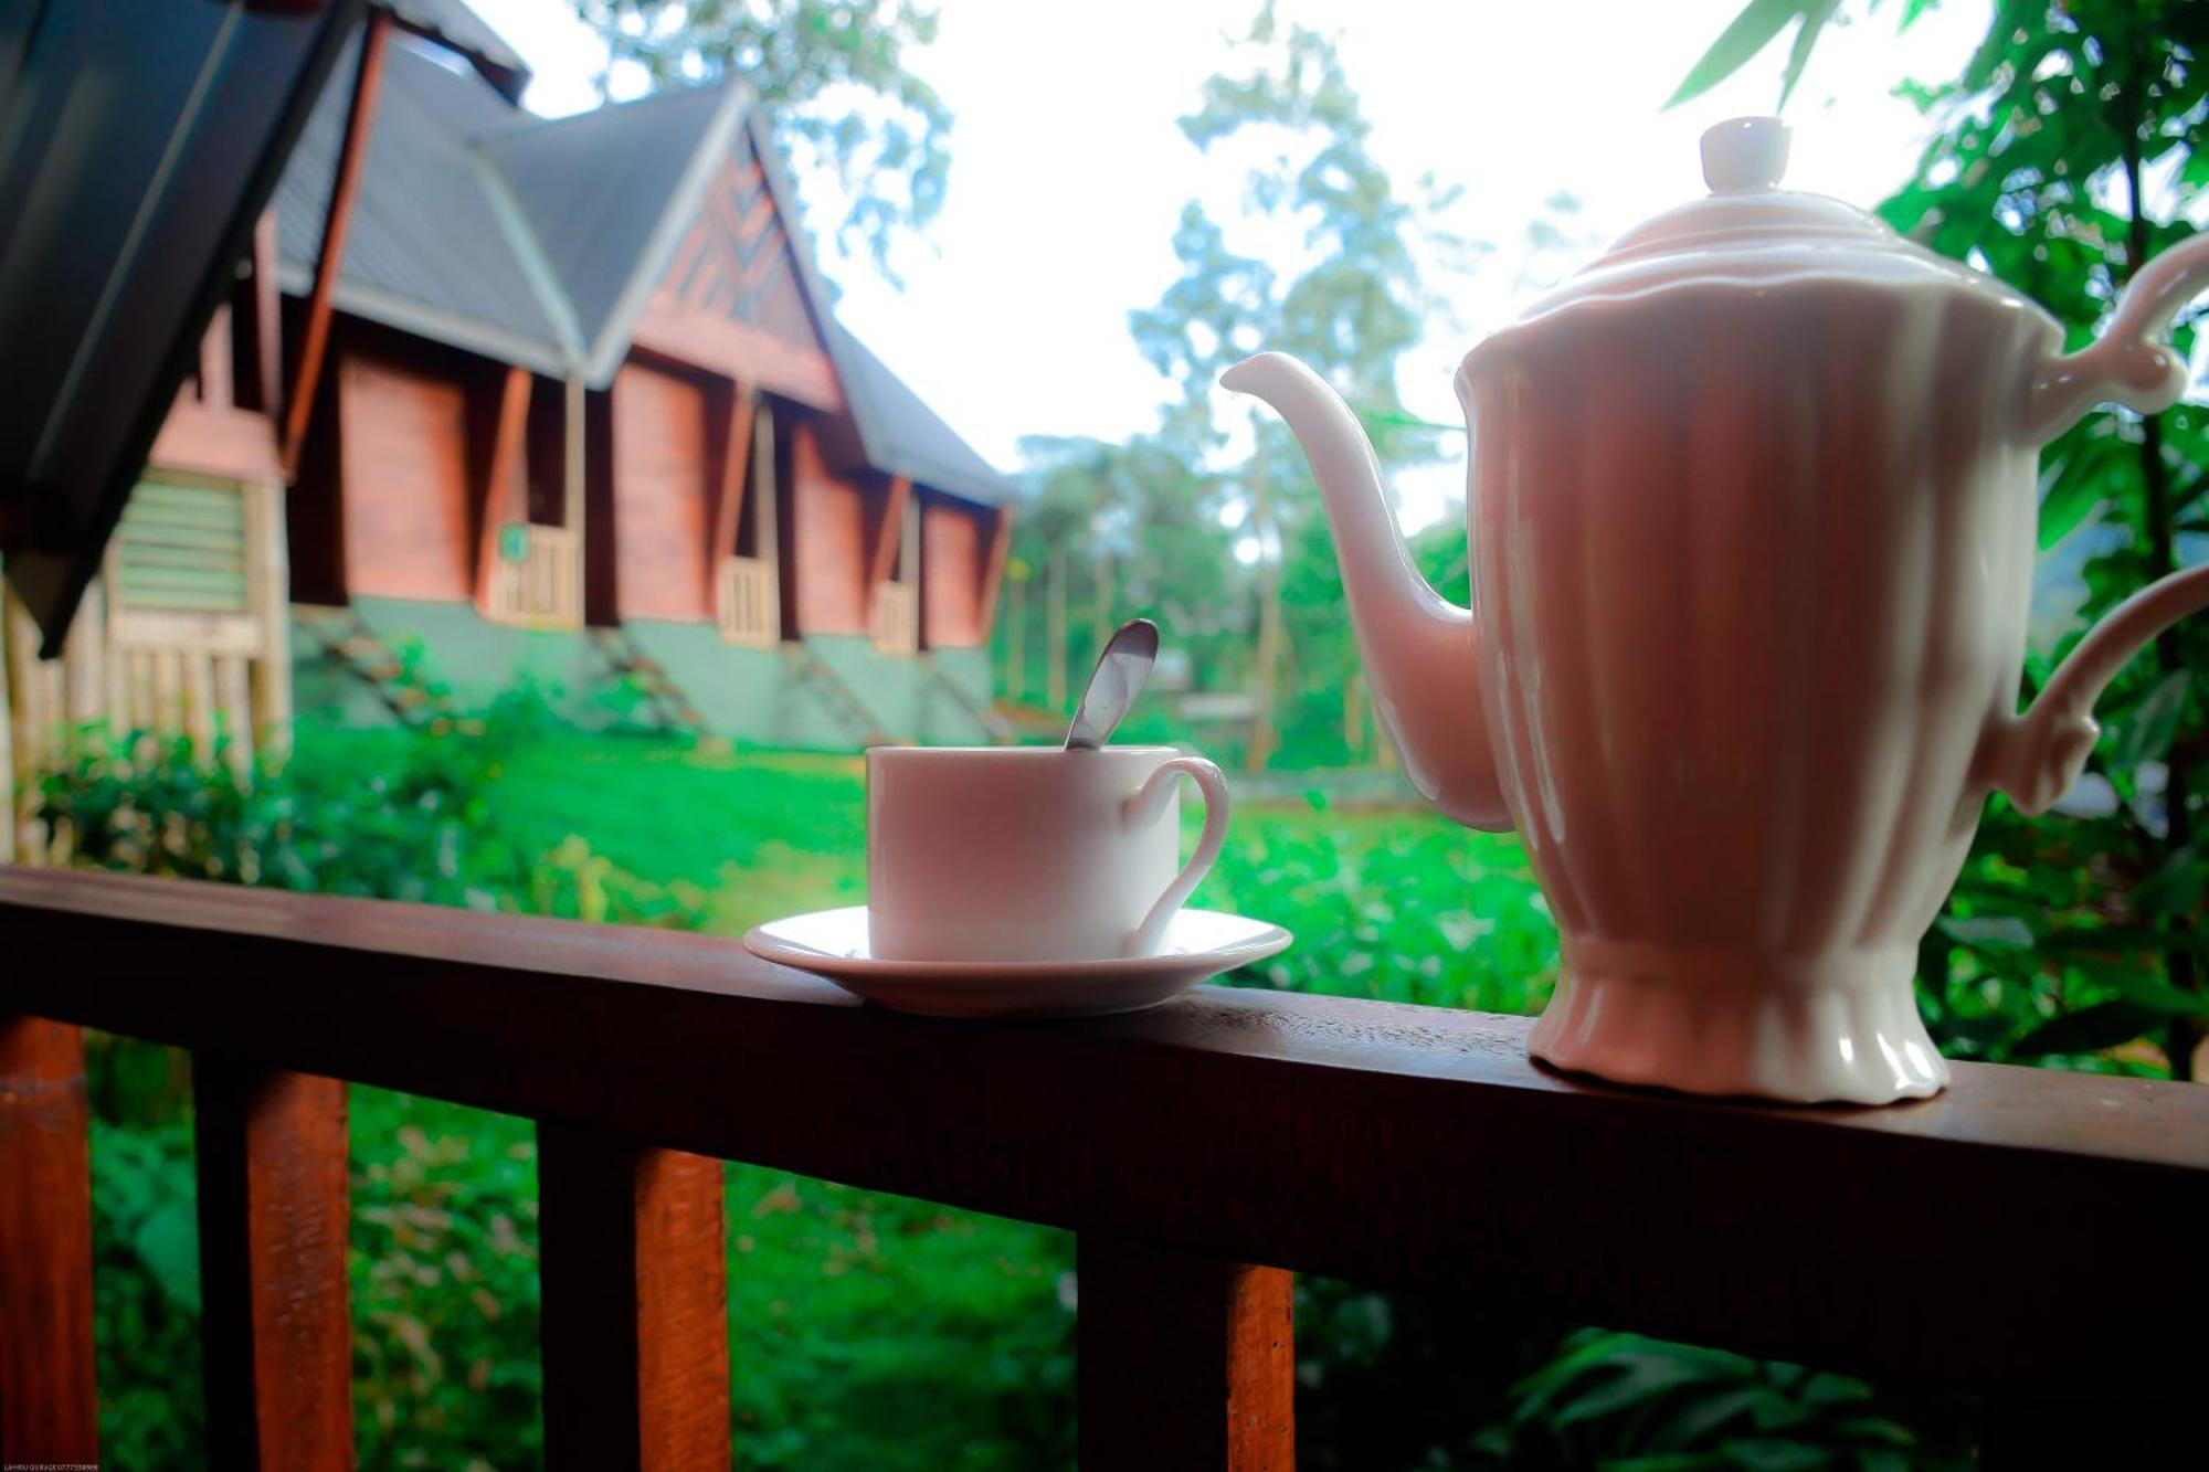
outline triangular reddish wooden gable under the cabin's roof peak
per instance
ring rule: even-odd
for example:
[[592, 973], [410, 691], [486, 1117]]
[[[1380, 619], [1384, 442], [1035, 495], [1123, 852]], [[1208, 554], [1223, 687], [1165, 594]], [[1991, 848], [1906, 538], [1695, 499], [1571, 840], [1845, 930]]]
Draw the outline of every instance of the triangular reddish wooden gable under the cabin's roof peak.
[[791, 225], [749, 128], [707, 183], [632, 343], [800, 404], [844, 409]]

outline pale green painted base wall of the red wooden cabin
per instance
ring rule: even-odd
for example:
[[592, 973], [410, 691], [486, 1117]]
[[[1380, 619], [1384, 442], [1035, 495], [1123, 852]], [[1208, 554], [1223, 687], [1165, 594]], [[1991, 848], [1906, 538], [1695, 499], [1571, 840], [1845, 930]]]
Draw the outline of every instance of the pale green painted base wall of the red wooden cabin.
[[[530, 681], [566, 721], [585, 729], [652, 718], [649, 709], [638, 707], [634, 692], [623, 690], [614, 665], [583, 630], [508, 628], [479, 617], [468, 603], [353, 599], [353, 610], [393, 650], [420, 645], [424, 672], [451, 685], [462, 707], [488, 705], [499, 692]], [[802, 645], [780, 650], [738, 650], [722, 643], [709, 623], [638, 619], [625, 630], [718, 736], [773, 747], [857, 749], [864, 734], [837, 718], [822, 681], [806, 672], [811, 654], [857, 696], [870, 725], [895, 740], [990, 740], [981, 721], [945, 687], [956, 681], [974, 703], [987, 705], [987, 650], [932, 650], [921, 659], [888, 659], [866, 639], [853, 637], [808, 637]], [[325, 654], [323, 639], [296, 614], [292, 661], [292, 701], [303, 718], [342, 725], [391, 721], [369, 683]]]

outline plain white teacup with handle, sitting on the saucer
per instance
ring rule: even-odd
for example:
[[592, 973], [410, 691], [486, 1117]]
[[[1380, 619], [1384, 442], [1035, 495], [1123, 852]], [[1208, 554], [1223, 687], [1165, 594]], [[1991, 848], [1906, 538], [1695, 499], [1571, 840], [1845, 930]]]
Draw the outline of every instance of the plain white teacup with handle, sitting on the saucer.
[[[1186, 864], [1184, 774], [1204, 791]], [[875, 747], [868, 944], [899, 961], [1155, 955], [1226, 829], [1219, 767], [1173, 747]]]

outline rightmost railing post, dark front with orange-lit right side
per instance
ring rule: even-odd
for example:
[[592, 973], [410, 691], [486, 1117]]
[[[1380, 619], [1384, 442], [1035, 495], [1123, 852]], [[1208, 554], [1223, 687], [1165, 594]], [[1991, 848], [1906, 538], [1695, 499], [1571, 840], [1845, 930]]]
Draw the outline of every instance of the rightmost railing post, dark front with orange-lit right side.
[[1290, 1472], [1294, 1275], [1153, 1242], [1076, 1247], [1082, 1472]]

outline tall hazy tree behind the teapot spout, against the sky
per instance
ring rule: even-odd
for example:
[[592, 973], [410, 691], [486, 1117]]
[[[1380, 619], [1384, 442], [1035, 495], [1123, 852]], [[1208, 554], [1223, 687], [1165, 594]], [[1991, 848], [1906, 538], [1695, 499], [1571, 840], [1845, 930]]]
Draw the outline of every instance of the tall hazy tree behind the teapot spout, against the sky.
[[[1297, 354], [1361, 411], [1383, 462], [1431, 458], [1434, 429], [1405, 413], [1396, 365], [1436, 316], [1423, 265], [1458, 265], [1469, 248], [1434, 228], [1447, 192], [1398, 186], [1372, 153], [1334, 40], [1270, 4], [1180, 126], [1239, 170], [1239, 208], [1222, 219], [1188, 201], [1177, 276], [1129, 314], [1171, 398], [1124, 446], [1034, 446], [1043, 500], [1023, 517], [1016, 566], [1047, 577], [1056, 555], [1076, 608], [1155, 612], [1195, 656], [1199, 687], [1268, 690], [1261, 756], [1339, 763], [1359, 667], [1317, 488], [1288, 431], [1215, 385], [1253, 351]], [[1023, 648], [1036, 623], [1023, 621]], [[1204, 736], [1233, 749], [1244, 732]]]

